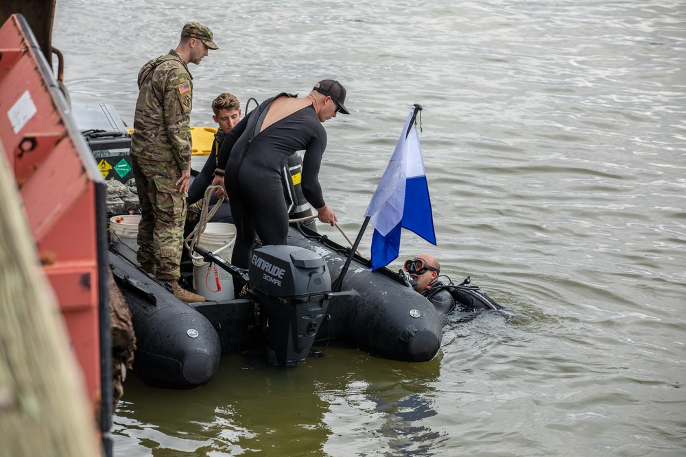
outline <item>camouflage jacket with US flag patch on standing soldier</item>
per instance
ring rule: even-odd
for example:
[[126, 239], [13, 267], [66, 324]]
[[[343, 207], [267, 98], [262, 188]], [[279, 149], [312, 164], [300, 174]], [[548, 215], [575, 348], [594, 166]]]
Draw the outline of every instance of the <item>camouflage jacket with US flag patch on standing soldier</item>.
[[182, 170], [191, 168], [192, 79], [174, 49], [143, 65], [138, 74], [132, 156], [174, 160]]

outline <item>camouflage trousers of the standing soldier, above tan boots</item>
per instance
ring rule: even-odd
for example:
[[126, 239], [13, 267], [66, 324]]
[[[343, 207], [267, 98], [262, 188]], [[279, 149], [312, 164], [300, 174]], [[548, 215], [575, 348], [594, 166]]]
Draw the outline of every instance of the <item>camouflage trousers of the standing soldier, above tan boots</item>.
[[154, 264], [162, 281], [178, 281], [186, 220], [186, 195], [176, 187], [181, 171], [176, 162], [131, 159], [143, 213], [138, 226], [138, 262]]

